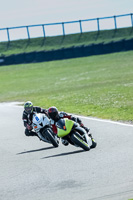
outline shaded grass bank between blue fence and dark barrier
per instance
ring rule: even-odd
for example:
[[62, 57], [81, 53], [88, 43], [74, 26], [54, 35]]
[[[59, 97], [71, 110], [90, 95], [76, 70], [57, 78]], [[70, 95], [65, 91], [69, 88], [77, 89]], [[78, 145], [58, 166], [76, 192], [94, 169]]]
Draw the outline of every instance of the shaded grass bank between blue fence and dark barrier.
[[132, 28], [121, 28], [117, 30], [104, 30], [88, 32], [83, 34], [72, 34], [56, 37], [34, 38], [29, 40], [17, 40], [0, 43], [0, 55], [11, 55], [23, 52], [61, 49], [72, 46], [89, 45], [95, 43], [108, 43], [122, 39], [133, 38]]

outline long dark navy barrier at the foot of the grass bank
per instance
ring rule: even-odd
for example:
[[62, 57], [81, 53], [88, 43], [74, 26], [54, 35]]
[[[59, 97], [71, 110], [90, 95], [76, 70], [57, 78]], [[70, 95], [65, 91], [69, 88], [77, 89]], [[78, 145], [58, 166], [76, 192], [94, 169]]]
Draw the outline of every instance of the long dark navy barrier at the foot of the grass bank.
[[51, 51], [40, 51], [40, 52], [16, 54], [11, 56], [2, 56], [0, 57], [0, 66], [62, 60], [62, 59], [85, 57], [91, 55], [101, 55], [101, 54], [128, 51], [128, 50], [133, 50], [133, 39], [109, 42], [106, 44], [103, 43], [91, 44], [88, 46], [62, 48]]

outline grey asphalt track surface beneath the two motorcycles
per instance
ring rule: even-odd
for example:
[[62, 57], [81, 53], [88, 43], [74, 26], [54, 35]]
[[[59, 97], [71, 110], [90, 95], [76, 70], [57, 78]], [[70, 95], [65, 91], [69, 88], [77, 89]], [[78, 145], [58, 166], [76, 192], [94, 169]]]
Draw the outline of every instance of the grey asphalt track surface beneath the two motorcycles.
[[133, 198], [133, 126], [83, 118], [98, 146], [88, 152], [26, 137], [21, 106], [0, 104], [0, 200]]

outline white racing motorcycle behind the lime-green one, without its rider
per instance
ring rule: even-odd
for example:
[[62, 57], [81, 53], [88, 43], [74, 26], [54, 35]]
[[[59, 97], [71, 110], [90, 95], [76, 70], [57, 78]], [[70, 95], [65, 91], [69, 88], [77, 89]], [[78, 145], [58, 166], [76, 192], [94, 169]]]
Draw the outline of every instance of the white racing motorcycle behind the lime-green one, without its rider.
[[50, 120], [45, 114], [34, 113], [32, 127], [42, 141], [50, 143], [54, 147], [58, 147], [58, 137], [53, 133]]

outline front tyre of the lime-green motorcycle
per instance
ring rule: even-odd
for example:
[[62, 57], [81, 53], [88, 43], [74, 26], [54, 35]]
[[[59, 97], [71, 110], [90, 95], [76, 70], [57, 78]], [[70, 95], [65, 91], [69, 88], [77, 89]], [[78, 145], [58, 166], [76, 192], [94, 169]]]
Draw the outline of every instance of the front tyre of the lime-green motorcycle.
[[74, 144], [81, 147], [85, 151], [90, 150], [89, 145], [83, 140], [82, 136], [78, 132], [71, 134], [71, 140], [73, 141]]

